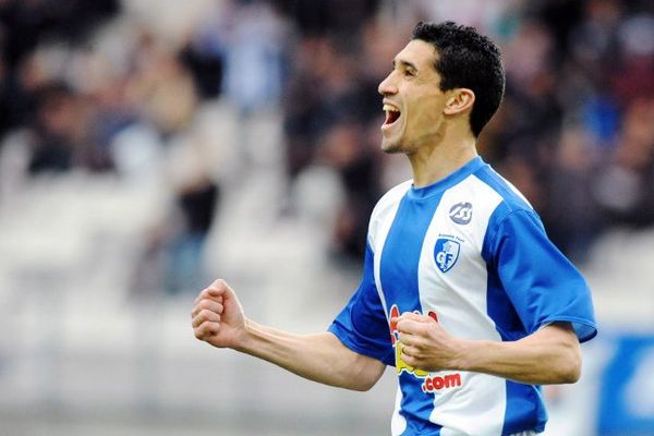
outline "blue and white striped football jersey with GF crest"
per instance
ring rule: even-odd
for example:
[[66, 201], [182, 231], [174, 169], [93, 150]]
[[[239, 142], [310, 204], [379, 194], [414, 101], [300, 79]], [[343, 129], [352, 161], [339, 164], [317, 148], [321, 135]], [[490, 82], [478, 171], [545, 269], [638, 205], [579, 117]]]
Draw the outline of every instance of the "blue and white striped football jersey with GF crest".
[[565, 320], [580, 341], [593, 338], [588, 286], [526, 199], [477, 157], [429, 186], [390, 190], [372, 214], [367, 242], [361, 284], [329, 330], [397, 368], [392, 435], [542, 432], [538, 386], [410, 367], [389, 324], [417, 311], [457, 337], [512, 341]]

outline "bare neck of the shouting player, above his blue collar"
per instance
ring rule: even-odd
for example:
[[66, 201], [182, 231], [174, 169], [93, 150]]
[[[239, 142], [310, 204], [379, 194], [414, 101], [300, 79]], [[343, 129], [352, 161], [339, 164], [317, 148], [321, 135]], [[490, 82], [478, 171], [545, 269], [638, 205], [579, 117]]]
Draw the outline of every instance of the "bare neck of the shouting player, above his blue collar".
[[423, 187], [445, 179], [477, 156], [471, 135], [444, 137], [408, 155], [413, 170], [413, 185]]

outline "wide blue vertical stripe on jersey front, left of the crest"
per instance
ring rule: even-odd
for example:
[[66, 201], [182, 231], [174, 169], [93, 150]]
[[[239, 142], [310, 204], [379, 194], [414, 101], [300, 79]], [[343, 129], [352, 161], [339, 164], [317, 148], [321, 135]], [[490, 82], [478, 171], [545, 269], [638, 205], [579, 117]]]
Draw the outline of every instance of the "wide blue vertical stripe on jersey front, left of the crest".
[[[423, 241], [443, 192], [411, 201], [400, 202], [380, 259], [379, 279], [389, 306], [397, 305], [400, 314], [422, 313], [417, 286], [417, 266]], [[438, 435], [440, 425], [429, 422], [434, 410], [434, 395], [422, 390], [423, 378], [403, 372], [399, 377], [402, 391], [400, 413], [407, 420], [403, 435]]]

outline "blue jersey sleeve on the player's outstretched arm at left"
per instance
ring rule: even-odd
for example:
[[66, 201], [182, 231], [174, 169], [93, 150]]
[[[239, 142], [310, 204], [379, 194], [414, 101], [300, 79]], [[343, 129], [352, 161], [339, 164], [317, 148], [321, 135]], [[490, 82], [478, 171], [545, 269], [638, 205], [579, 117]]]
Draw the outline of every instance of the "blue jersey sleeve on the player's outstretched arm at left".
[[350, 350], [395, 365], [388, 320], [375, 286], [373, 256], [368, 245], [359, 289], [336, 317], [329, 331]]

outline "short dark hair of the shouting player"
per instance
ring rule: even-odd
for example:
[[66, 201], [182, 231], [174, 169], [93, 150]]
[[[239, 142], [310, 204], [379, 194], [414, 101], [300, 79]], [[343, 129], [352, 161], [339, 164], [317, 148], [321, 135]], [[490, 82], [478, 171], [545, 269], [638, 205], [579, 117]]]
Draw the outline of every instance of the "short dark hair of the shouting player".
[[434, 68], [440, 75], [440, 90], [472, 89], [475, 101], [470, 129], [476, 137], [493, 117], [505, 90], [505, 71], [499, 49], [474, 27], [420, 22], [411, 39], [432, 44], [437, 51]]

